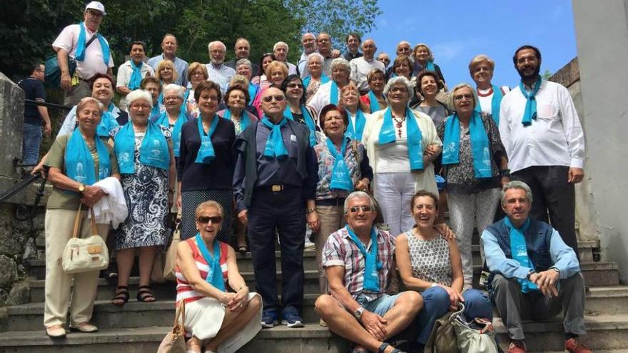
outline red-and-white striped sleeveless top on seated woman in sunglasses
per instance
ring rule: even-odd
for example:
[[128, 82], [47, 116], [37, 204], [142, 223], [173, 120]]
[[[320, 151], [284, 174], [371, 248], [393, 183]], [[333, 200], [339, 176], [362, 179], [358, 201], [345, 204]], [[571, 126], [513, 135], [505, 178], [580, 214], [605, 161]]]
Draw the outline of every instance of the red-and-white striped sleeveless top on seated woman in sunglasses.
[[[205, 258], [203, 258], [203, 255], [201, 255], [201, 252], [198, 251], [198, 247], [196, 246], [194, 237], [191, 237], [190, 239], [185, 241], [192, 249], [192, 257], [196, 262], [196, 268], [198, 268], [198, 272], [201, 274], [201, 278], [203, 278], [203, 280], [206, 280], [209, 266], [207, 265]], [[219, 243], [221, 245], [221, 258], [219, 259], [219, 262], [221, 264], [221, 270], [223, 270], [223, 280], [225, 280], [226, 283], [228, 275], [227, 256], [229, 255], [229, 246], [224, 242]], [[177, 279], [177, 305], [179, 304], [179, 302], [181, 302], [181, 300], [185, 300], [186, 303], [189, 303], [199, 299], [203, 299], [205, 297], [205, 295], [196, 292], [196, 290], [194, 290], [193, 287], [188, 283], [186, 277], [183, 276], [183, 272], [181, 272], [181, 269], [179, 269], [178, 264], [175, 269], [175, 275]]]

